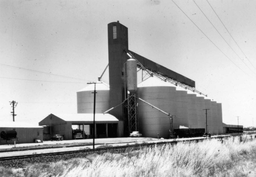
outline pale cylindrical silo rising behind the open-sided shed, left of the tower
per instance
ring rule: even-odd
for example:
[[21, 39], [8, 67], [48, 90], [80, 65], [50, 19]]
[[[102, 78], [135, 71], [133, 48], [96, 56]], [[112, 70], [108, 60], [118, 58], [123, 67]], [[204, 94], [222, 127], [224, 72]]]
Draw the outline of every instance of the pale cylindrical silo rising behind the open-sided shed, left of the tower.
[[[77, 92], [77, 113], [93, 113], [94, 84]], [[95, 113], [103, 113], [109, 109], [109, 86], [104, 82], [97, 82], [95, 97]]]

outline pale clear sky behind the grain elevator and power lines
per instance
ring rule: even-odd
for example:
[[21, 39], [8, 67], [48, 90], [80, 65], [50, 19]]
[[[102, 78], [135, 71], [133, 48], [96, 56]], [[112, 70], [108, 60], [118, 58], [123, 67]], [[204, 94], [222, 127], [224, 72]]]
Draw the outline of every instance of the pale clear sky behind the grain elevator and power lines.
[[207, 1], [195, 2], [241, 59], [192, 0], [174, 2], [229, 59], [172, 1], [0, 0], [0, 120], [12, 121], [12, 100], [16, 121], [77, 113], [76, 92], [108, 64], [107, 24], [119, 20], [130, 50], [193, 79], [222, 103], [224, 123], [256, 124], [256, 1], [208, 1], [247, 58]]

